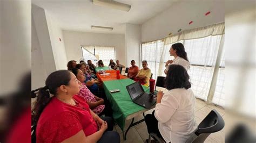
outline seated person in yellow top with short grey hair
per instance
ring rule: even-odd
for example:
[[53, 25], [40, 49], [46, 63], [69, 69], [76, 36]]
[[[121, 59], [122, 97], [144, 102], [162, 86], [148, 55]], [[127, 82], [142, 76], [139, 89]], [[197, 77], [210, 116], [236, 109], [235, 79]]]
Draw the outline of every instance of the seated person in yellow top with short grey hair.
[[134, 78], [134, 81], [139, 81], [140, 84], [145, 85], [146, 87], [149, 86], [149, 80], [151, 77], [151, 70], [147, 67], [147, 61], [142, 61], [142, 69], [139, 70], [139, 73]]

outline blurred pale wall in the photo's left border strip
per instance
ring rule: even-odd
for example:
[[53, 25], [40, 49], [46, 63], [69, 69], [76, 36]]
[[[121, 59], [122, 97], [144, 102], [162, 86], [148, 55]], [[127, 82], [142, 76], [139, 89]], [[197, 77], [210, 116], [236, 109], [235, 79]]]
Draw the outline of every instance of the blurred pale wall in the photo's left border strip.
[[0, 96], [19, 90], [31, 68], [31, 2], [0, 1]]

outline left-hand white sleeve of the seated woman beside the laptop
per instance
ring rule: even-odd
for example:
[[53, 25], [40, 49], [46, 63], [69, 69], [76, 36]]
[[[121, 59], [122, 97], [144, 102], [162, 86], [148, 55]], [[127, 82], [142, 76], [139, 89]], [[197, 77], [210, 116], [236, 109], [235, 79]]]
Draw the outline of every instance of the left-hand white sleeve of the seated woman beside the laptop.
[[165, 123], [170, 120], [172, 115], [178, 109], [178, 101], [172, 95], [164, 95], [161, 99], [161, 103], [156, 105], [154, 116], [160, 123]]

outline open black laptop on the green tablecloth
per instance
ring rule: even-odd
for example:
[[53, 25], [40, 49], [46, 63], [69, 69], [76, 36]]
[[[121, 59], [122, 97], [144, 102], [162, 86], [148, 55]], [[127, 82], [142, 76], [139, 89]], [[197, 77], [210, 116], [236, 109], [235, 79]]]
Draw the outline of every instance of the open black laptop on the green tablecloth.
[[147, 94], [142, 85], [139, 82], [134, 82], [126, 86], [126, 89], [132, 99], [132, 101], [144, 108], [151, 109], [151, 107], [156, 103], [154, 95]]

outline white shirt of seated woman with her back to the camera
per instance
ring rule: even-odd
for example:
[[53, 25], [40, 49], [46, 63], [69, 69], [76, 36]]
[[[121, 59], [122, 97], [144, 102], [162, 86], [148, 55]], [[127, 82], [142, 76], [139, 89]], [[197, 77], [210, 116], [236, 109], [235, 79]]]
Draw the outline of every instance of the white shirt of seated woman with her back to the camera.
[[197, 129], [194, 120], [195, 101], [191, 89], [172, 89], [156, 105], [154, 116], [166, 142], [186, 142]]

